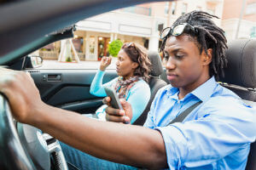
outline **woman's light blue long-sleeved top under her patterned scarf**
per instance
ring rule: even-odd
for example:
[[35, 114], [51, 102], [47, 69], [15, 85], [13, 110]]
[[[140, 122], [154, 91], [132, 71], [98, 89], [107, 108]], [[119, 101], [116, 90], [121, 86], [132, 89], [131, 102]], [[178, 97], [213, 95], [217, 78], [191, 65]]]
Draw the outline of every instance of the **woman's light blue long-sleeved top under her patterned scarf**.
[[[98, 70], [96, 72], [96, 76], [90, 85], [90, 94], [96, 95], [98, 97], [106, 97], [107, 94], [104, 87], [111, 87], [113, 83], [118, 81], [118, 77], [116, 77], [112, 81], [102, 84], [104, 74], [105, 71]], [[132, 107], [131, 124], [135, 122], [139, 116], [142, 115], [144, 109], [148, 105], [150, 94], [151, 93], [148, 83], [143, 80], [137, 81], [134, 86], [126, 93], [126, 101], [130, 103]]]

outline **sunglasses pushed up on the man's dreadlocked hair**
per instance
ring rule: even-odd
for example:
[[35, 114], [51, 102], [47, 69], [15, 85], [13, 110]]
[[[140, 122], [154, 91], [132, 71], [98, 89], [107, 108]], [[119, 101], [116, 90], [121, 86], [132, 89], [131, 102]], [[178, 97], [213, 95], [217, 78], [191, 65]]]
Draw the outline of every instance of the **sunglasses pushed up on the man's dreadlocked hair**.
[[183, 32], [193, 31], [197, 33], [197, 30], [194, 26], [189, 25], [189, 23], [179, 24], [177, 26], [166, 27], [160, 34], [161, 39], [165, 39], [170, 36], [180, 36]]

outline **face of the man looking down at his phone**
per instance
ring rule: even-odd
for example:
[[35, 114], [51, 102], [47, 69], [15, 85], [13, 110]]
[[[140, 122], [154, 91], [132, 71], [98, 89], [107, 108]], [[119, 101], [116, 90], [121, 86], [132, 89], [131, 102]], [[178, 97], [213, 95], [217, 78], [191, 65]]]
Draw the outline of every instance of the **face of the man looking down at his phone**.
[[188, 35], [169, 37], [164, 49], [167, 79], [173, 87], [193, 90], [209, 78], [207, 54]]

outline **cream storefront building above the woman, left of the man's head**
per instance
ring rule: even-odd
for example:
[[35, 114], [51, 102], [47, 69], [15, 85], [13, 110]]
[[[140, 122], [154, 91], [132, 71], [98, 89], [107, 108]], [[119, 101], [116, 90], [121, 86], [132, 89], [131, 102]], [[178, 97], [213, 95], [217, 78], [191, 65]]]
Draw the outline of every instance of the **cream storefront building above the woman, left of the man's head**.
[[[96, 15], [77, 23], [75, 35], [84, 42], [85, 60], [97, 60], [108, 54], [108, 44], [119, 39], [137, 42], [149, 50], [158, 50], [158, 25], [166, 24], [166, 3], [148, 3]], [[157, 10], [160, 9], [160, 10]]]

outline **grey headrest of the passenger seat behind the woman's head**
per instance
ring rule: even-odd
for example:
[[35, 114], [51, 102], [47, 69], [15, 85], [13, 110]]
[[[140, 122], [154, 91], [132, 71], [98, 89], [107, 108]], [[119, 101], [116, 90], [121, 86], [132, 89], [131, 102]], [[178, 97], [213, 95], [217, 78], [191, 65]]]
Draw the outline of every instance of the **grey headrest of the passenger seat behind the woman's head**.
[[160, 54], [158, 54], [156, 51], [149, 51], [148, 52], [148, 57], [151, 61], [151, 71], [149, 73], [150, 76], [153, 77], [159, 77], [163, 70], [162, 62], [160, 59]]

